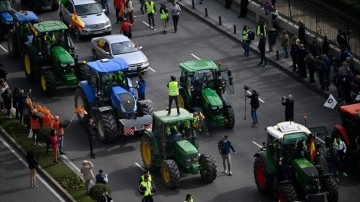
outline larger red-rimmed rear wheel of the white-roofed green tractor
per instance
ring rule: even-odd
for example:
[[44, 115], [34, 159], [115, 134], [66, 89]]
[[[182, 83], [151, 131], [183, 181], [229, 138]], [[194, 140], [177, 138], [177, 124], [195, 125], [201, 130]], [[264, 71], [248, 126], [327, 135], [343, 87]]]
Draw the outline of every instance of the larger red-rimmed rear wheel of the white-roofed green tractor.
[[274, 193], [274, 176], [266, 172], [264, 160], [256, 157], [254, 162], [255, 184], [261, 193]]

